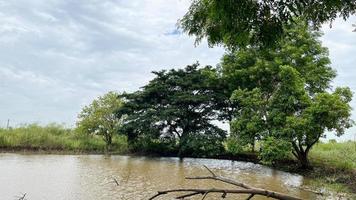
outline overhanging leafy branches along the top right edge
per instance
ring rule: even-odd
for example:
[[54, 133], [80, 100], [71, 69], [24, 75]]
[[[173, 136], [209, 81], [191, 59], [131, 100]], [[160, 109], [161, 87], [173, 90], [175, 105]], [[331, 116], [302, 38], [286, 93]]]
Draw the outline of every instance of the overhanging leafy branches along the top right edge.
[[196, 42], [207, 38], [213, 45], [230, 49], [248, 45], [272, 46], [281, 38], [284, 26], [304, 18], [315, 27], [336, 17], [355, 14], [356, 2], [343, 0], [193, 0], [179, 25]]

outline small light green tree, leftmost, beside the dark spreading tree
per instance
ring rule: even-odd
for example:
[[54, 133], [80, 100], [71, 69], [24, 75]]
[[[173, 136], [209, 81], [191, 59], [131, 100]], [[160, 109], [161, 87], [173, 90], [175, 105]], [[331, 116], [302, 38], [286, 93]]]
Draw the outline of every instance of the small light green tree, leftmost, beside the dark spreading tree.
[[122, 118], [117, 117], [116, 110], [121, 108], [122, 101], [118, 93], [108, 92], [85, 106], [78, 115], [77, 127], [86, 134], [100, 135], [110, 150], [113, 135], [118, 133]]

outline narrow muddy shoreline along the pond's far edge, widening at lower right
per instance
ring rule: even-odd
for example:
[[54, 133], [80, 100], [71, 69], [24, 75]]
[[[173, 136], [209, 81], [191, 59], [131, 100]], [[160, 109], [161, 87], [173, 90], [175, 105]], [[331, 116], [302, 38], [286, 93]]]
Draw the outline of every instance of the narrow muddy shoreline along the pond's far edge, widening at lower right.
[[[18, 154], [43, 154], [43, 155], [118, 155], [118, 156], [145, 156], [145, 157], [174, 157], [175, 155], [159, 155], [159, 154], [145, 154], [145, 153], [129, 153], [129, 152], [108, 152], [103, 151], [75, 151], [75, 150], [63, 150], [63, 149], [41, 149], [41, 148], [0, 148], [0, 153], [18, 153]], [[340, 197], [350, 196], [356, 198], [356, 169], [344, 170], [337, 169], [331, 166], [314, 165], [312, 170], [303, 171], [298, 169], [297, 163], [292, 160], [286, 160], [280, 165], [265, 165], [259, 162], [258, 157], [255, 154], [241, 154], [238, 156], [222, 155], [214, 157], [183, 157], [183, 158], [202, 158], [202, 159], [217, 159], [217, 160], [229, 160], [229, 161], [243, 161], [252, 162], [254, 164], [260, 164], [270, 167], [275, 170], [280, 170], [288, 173], [294, 173], [308, 178], [311, 182], [310, 186], [301, 187], [302, 190], [308, 190], [318, 195], [330, 195], [324, 194], [323, 188], [333, 193], [333, 195], [340, 194]], [[348, 178], [347, 178], [348, 177]]]

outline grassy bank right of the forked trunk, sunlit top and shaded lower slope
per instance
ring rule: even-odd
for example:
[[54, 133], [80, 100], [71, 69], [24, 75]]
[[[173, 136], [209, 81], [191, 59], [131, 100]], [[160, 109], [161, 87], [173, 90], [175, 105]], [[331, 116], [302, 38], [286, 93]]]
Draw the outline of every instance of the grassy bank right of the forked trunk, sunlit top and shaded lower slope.
[[356, 142], [319, 143], [310, 152], [314, 169], [302, 174], [314, 188], [353, 193], [356, 199]]

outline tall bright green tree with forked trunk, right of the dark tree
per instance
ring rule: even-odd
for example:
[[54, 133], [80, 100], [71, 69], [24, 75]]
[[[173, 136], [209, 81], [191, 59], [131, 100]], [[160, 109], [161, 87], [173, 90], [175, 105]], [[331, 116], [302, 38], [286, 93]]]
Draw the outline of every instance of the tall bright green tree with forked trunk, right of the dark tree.
[[224, 56], [222, 76], [236, 105], [231, 134], [251, 145], [271, 137], [287, 141], [308, 167], [308, 152], [326, 130], [341, 135], [352, 125], [352, 94], [331, 90], [336, 73], [318, 31], [301, 21], [285, 30], [273, 49], [248, 47]]

